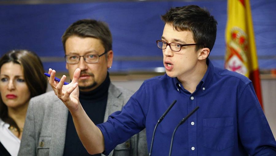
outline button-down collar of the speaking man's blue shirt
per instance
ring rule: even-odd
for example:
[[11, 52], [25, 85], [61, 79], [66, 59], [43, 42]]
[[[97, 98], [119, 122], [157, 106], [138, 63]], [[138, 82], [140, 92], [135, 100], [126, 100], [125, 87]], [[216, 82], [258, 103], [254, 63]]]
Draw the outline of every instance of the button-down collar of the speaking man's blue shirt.
[[[208, 66], [207, 71], [204, 74], [201, 81], [199, 82], [199, 84], [197, 85], [197, 88], [201, 87], [202, 91], [205, 91], [206, 88], [208, 88], [209, 83], [211, 82], [213, 75], [214, 75], [214, 66], [213, 66], [212, 62], [209, 60], [209, 58], [207, 58], [206, 64]], [[176, 87], [176, 90], [178, 90], [178, 92], [179, 92], [179, 88], [181, 88], [181, 86], [182, 86], [181, 82], [179, 82], [179, 80], [176, 77], [173, 78], [173, 82], [174, 82], [174, 86]]]

